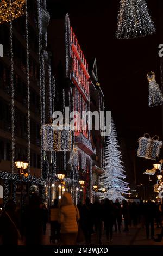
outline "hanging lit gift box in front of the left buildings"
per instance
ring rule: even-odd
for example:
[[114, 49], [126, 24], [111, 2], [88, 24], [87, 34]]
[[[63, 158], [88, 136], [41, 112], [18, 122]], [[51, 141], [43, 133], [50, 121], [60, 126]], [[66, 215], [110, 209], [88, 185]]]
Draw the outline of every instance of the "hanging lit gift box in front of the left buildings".
[[74, 130], [71, 126], [44, 124], [41, 127], [42, 147], [45, 151], [71, 151]]

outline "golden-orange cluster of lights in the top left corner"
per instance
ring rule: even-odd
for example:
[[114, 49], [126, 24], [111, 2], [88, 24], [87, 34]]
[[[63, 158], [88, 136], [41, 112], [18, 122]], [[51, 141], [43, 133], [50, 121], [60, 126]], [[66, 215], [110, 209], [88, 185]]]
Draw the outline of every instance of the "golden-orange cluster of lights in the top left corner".
[[0, 2], [0, 24], [9, 22], [25, 13], [26, 0], [1, 0]]

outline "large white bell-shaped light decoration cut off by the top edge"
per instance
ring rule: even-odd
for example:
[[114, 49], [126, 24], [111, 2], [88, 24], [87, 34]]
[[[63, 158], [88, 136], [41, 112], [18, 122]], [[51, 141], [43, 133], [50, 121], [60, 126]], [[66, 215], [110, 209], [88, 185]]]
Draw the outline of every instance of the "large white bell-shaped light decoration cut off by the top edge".
[[117, 39], [146, 36], [156, 31], [145, 0], [121, 0]]

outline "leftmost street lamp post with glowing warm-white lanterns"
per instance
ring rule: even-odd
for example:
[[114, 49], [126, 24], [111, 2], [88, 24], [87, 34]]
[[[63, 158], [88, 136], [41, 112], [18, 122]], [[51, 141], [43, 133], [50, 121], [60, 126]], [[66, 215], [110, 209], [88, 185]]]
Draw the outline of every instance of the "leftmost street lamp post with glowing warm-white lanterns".
[[23, 210], [23, 182], [22, 182], [22, 177], [28, 177], [28, 173], [25, 171], [28, 167], [28, 162], [27, 161], [22, 161], [22, 160], [16, 160], [15, 165], [16, 167], [20, 170], [20, 179], [21, 179], [21, 212]]

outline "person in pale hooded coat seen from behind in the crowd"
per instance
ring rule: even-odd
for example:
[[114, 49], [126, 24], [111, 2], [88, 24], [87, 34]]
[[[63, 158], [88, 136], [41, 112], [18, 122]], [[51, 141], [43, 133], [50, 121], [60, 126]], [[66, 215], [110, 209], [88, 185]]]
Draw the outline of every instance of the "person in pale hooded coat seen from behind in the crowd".
[[70, 193], [65, 192], [59, 203], [59, 223], [62, 245], [76, 245], [80, 215]]

